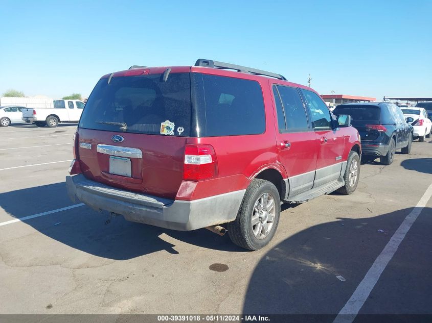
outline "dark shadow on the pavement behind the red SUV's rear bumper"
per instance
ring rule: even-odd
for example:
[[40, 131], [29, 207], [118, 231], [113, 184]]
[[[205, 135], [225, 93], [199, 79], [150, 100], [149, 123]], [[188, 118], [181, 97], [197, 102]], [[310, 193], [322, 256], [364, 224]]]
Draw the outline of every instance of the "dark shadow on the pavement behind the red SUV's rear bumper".
[[[15, 218], [52, 211], [72, 204], [64, 182], [0, 194], [0, 207]], [[206, 229], [168, 230], [128, 222], [123, 216], [113, 217], [110, 223], [106, 223], [108, 219], [107, 214], [100, 214], [87, 206], [81, 206], [29, 219], [25, 223], [74, 249], [115, 260], [131, 259], [161, 250], [178, 254], [175, 250], [176, 240], [207, 249], [246, 252], [234, 245], [228, 234], [222, 237]], [[12, 230], [9, 226], [14, 225], [17, 223], [7, 225], [2, 230]]]

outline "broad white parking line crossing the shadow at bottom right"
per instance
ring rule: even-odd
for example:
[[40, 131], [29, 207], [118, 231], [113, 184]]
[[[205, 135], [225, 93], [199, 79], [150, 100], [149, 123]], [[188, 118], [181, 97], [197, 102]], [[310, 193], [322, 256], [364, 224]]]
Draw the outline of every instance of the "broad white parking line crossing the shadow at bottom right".
[[399, 244], [402, 242], [408, 230], [410, 230], [414, 221], [417, 219], [423, 208], [426, 206], [429, 198], [432, 196], [432, 184], [424, 192], [423, 196], [420, 198], [419, 203], [415, 208], [408, 214], [403, 220], [402, 224], [390, 238], [390, 241], [385, 245], [382, 252], [376, 258], [372, 267], [369, 268], [366, 273], [365, 278], [360, 282], [360, 284], [355, 289], [354, 293], [351, 295], [348, 302], [337, 314], [333, 323], [351, 323], [358, 314], [363, 304], [369, 297], [372, 289], [374, 288], [376, 282], [382, 274], [387, 264], [392, 260], [393, 255], [396, 253]]

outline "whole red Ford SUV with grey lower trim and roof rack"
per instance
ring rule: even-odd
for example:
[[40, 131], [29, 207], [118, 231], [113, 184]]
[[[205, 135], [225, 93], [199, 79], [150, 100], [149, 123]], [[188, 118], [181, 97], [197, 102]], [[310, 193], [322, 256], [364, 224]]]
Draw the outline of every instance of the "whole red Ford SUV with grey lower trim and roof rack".
[[350, 194], [360, 171], [350, 117], [314, 90], [202, 59], [106, 74], [74, 143], [73, 201], [173, 230], [226, 228], [249, 250], [275, 235], [281, 202]]

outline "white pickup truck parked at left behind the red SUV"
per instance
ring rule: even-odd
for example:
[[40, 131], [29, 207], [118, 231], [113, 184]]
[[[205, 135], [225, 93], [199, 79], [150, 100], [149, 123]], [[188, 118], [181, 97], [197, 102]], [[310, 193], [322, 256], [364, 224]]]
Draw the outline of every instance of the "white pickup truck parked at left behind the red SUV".
[[54, 108], [22, 108], [22, 120], [55, 128], [59, 122], [78, 122], [82, 109], [84, 103], [79, 100], [54, 100]]

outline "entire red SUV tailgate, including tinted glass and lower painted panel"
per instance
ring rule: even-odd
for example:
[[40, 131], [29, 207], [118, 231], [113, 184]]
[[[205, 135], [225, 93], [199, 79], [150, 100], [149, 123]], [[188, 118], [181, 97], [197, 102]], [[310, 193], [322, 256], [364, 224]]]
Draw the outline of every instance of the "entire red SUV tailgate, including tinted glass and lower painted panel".
[[174, 199], [191, 129], [190, 74], [127, 73], [102, 78], [88, 98], [78, 129], [81, 169], [94, 181]]

